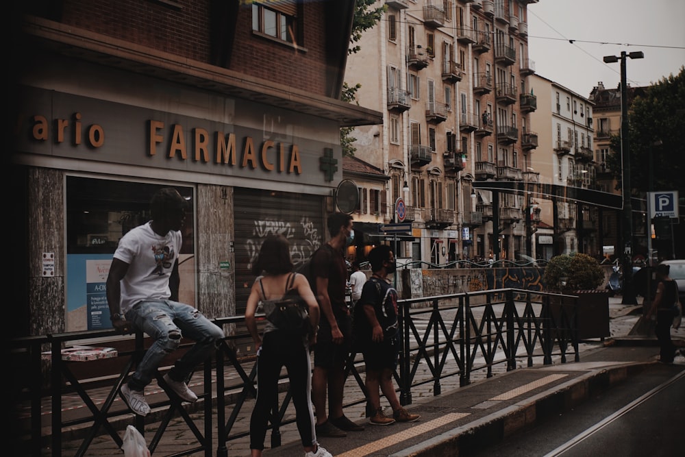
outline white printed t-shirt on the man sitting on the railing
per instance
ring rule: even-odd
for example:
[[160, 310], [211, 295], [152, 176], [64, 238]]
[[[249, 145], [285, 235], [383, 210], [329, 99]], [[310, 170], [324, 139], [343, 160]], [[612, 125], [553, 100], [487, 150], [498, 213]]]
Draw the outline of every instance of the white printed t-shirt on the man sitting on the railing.
[[121, 312], [141, 300], [166, 300], [171, 297], [169, 277], [181, 249], [181, 232], [156, 234], [150, 223], [138, 225], [119, 240], [114, 258], [129, 264], [121, 280]]

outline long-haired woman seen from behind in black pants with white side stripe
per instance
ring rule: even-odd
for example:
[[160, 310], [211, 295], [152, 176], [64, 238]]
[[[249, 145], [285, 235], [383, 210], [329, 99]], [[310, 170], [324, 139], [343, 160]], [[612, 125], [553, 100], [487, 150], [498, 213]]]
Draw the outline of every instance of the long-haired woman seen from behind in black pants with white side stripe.
[[[288, 370], [295, 421], [305, 456], [332, 457], [316, 441], [311, 399], [309, 346], [316, 343], [319, 304], [307, 278], [292, 270], [288, 240], [282, 235], [267, 236], [252, 267], [252, 273], [257, 278], [252, 284], [245, 310], [245, 324], [257, 351], [257, 401], [250, 418], [251, 457], [262, 456], [271, 410], [278, 404], [278, 380], [283, 366]], [[255, 318], [258, 308], [264, 301], [282, 299], [290, 289], [297, 291], [297, 295], [307, 304], [310, 331], [290, 333], [266, 321], [264, 336], [260, 336]]]

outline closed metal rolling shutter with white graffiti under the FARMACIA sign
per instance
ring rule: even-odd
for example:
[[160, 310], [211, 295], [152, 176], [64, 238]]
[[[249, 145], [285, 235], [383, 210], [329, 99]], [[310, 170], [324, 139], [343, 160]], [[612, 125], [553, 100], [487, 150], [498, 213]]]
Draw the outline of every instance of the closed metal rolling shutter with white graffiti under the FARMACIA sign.
[[235, 269], [236, 315], [245, 314], [245, 305], [255, 276], [262, 240], [269, 234], [283, 234], [290, 242], [290, 256], [297, 264], [308, 259], [328, 236], [324, 232], [324, 201], [320, 195], [272, 192], [236, 188]]

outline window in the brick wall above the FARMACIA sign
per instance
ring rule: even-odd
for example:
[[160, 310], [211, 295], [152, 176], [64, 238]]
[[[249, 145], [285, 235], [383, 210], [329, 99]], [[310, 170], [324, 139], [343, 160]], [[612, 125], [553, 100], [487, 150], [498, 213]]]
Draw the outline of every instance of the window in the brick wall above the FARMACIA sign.
[[252, 3], [252, 30], [289, 43], [298, 43], [297, 3], [295, 0]]

